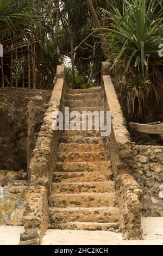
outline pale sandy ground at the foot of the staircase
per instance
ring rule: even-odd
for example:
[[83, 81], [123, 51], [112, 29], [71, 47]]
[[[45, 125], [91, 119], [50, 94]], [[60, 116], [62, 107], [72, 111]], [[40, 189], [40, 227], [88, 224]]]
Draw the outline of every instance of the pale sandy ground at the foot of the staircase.
[[[163, 217], [142, 218], [143, 239], [124, 241], [110, 231], [47, 230], [42, 245], [163, 245]], [[0, 245], [18, 245], [23, 227], [0, 227]]]

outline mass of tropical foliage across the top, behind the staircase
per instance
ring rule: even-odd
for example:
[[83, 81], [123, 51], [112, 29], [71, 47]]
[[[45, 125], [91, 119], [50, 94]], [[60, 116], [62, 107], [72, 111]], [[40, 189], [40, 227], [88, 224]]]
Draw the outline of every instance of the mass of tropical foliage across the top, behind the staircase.
[[39, 88], [52, 88], [60, 63], [67, 86], [99, 85], [109, 60], [120, 100], [139, 119], [163, 86], [162, 19], [161, 0], [0, 0], [0, 40], [39, 38]]

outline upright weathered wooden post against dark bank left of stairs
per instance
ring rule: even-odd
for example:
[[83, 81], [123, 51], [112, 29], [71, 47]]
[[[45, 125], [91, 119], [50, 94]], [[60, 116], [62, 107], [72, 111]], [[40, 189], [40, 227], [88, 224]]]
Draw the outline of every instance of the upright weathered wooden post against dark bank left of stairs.
[[28, 136], [27, 136], [27, 171], [28, 180], [31, 178], [30, 161], [32, 159], [32, 152], [34, 149], [34, 133], [35, 133], [35, 103], [29, 103], [29, 123], [28, 123]]

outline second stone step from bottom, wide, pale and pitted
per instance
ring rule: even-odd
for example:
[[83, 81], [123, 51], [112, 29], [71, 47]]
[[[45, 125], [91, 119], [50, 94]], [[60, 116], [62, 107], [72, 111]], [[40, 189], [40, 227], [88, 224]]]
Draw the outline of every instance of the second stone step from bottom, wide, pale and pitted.
[[51, 208], [49, 217], [51, 223], [65, 222], [118, 222], [119, 210], [114, 207], [98, 208]]

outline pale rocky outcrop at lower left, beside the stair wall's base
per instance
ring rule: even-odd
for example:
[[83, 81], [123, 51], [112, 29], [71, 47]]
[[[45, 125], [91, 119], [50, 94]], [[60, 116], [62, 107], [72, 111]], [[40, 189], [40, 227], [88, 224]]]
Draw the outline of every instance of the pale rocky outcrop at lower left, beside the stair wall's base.
[[26, 200], [27, 173], [1, 170], [0, 225], [23, 225], [23, 203]]

